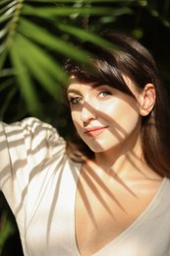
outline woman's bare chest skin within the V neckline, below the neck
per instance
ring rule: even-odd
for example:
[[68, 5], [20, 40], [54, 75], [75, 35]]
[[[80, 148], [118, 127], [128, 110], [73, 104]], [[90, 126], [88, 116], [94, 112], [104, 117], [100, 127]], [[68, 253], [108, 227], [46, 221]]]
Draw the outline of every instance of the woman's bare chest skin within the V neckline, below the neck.
[[76, 237], [81, 255], [99, 252], [129, 230], [146, 211], [157, 189], [148, 186], [141, 192], [124, 183], [109, 188], [102, 180], [94, 182], [89, 176], [80, 179]]

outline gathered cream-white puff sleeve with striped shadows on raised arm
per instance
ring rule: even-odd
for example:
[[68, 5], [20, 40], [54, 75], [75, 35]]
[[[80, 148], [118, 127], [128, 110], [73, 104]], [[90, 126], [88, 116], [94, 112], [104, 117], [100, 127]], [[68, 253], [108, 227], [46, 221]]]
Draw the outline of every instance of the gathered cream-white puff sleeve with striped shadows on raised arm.
[[27, 198], [32, 172], [64, 155], [65, 148], [65, 141], [56, 129], [36, 118], [0, 124], [0, 189], [14, 213], [19, 202], [26, 202], [23, 195]]

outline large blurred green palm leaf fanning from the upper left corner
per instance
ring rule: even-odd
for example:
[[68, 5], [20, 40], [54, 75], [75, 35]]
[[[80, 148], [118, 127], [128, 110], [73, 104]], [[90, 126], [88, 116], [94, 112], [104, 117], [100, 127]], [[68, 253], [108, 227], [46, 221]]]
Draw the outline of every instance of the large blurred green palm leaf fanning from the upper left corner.
[[147, 1], [1, 0], [0, 67], [3, 80], [5, 76], [8, 79], [10, 73], [15, 74], [14, 81], [18, 81], [28, 111], [39, 112], [36, 84], [57, 98], [61, 84], [67, 79], [62, 69], [64, 58], [87, 62], [87, 53], [77, 48], [75, 41], [86, 39], [108, 46], [100, 36], [85, 30], [87, 27], [84, 29], [80, 21], [88, 23], [89, 17], [96, 17], [100, 23], [113, 23], [119, 16], [132, 15], [134, 6], [147, 6]]

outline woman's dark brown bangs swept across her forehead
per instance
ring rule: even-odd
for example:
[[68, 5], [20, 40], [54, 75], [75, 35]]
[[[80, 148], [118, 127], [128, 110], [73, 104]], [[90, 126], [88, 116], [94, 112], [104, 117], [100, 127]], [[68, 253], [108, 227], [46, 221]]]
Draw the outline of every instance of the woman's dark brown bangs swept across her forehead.
[[89, 43], [84, 46], [84, 49], [89, 52], [88, 62], [87, 64], [86, 62], [77, 63], [69, 59], [65, 64], [65, 70], [69, 76], [75, 76], [80, 82], [86, 84], [107, 85], [133, 96], [123, 78], [116, 51], [113, 53]]

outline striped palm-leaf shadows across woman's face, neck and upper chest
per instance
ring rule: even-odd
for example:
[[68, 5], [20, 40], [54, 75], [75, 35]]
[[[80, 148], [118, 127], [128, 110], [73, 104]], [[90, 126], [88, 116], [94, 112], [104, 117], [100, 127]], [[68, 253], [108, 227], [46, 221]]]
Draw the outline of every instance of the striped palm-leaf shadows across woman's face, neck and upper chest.
[[[129, 164], [132, 166], [133, 169], [136, 169], [137, 172], [140, 173], [142, 178], [147, 179], [147, 175], [142, 171], [142, 155], [140, 156], [135, 150], [134, 146], [136, 144], [136, 139], [138, 139], [140, 132], [141, 132], [141, 116], [139, 113], [138, 103], [135, 103], [136, 99], [132, 96], [127, 96], [128, 100], [126, 103], [128, 103], [135, 111], [137, 111], [137, 114], [139, 114], [139, 123], [140, 123], [140, 129], [137, 129], [136, 131], [132, 131], [132, 133], [136, 133], [135, 136], [131, 136], [132, 134], [128, 134], [126, 131], [126, 127], [122, 127], [118, 121], [114, 120], [114, 117], [108, 116], [107, 113], [104, 111], [99, 111], [93, 108], [90, 104], [86, 103], [87, 111], [91, 113], [91, 116], [94, 116], [94, 119], [98, 118], [99, 116], [102, 116], [102, 118], [99, 119], [99, 122], [101, 125], [105, 125], [105, 120], [109, 120], [109, 123], [112, 123], [112, 136], [114, 136], [118, 144], [113, 149], [113, 158], [110, 159], [110, 171], [108, 172], [108, 175], [112, 179], [114, 179], [114, 182], [119, 184], [120, 187], [122, 187], [125, 191], [127, 191], [127, 195], [131, 194], [132, 197], [137, 198], [138, 195], [136, 192], [134, 192], [134, 189], [129, 185], [128, 182], [126, 182], [125, 179], [122, 178], [121, 175], [119, 175], [119, 172], [115, 171], [114, 169], [114, 162], [119, 159], [122, 155], [126, 155], [126, 160], [129, 162]], [[130, 100], [129, 100], [130, 99]], [[133, 100], [131, 100], [133, 99]], [[94, 114], [93, 114], [94, 113]], [[124, 113], [129, 115], [129, 112]], [[114, 116], [114, 115], [113, 115]], [[90, 122], [94, 119], [89, 119], [85, 123], [83, 122], [83, 126], [90, 125]], [[131, 120], [130, 120], [131, 121]], [[77, 128], [79, 127], [79, 123], [77, 123]], [[85, 127], [84, 127], [85, 128]], [[82, 127], [80, 125], [78, 130], [81, 130]], [[95, 141], [95, 144], [97, 142]], [[127, 146], [128, 145], [128, 146]], [[98, 145], [99, 146], [99, 145]], [[100, 147], [100, 146], [99, 146]], [[101, 149], [102, 150], [102, 149]], [[95, 154], [94, 154], [95, 155]], [[122, 212], [126, 214], [126, 209], [124, 208], [124, 205], [121, 204], [120, 200], [117, 198], [116, 193], [114, 193], [114, 190], [107, 186], [107, 184], [102, 180], [102, 178], [97, 175], [96, 170], [93, 169], [91, 166], [87, 166], [84, 168], [84, 164], [82, 167], [81, 172], [81, 181], [78, 182], [78, 190], [80, 193], [80, 196], [82, 198], [82, 201], [84, 202], [86, 212], [88, 213], [88, 216], [90, 220], [93, 222], [94, 225], [97, 226], [96, 220], [95, 220], [95, 213], [90, 205], [90, 198], [86, 196], [86, 189], [90, 190], [91, 195], [93, 195], [96, 199], [96, 201], [100, 202], [102, 207], [105, 209], [105, 211], [110, 215], [112, 218], [114, 218], [114, 211], [111, 209], [111, 206], [107, 202], [107, 198], [110, 198], [114, 203], [120, 208]], [[106, 163], [107, 166], [107, 163]], [[100, 166], [99, 166], [100, 167]], [[101, 191], [103, 191], [106, 196], [104, 196]]]

